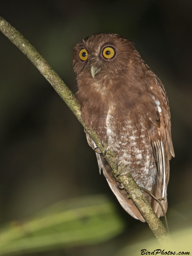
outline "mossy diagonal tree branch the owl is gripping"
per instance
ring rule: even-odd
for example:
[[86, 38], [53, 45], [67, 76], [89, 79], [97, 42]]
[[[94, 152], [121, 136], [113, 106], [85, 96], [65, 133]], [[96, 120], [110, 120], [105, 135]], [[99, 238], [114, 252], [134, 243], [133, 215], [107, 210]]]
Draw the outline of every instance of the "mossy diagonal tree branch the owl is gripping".
[[[79, 105], [79, 102], [76, 100], [73, 93], [68, 89], [66, 84], [57, 75], [57, 73], [49, 66], [47, 61], [44, 60], [44, 58], [39, 54], [39, 52], [36, 51], [36, 49], [28, 42], [28, 40], [26, 40], [20, 34], [20, 32], [13, 28], [2, 17], [0, 17], [0, 30], [5, 36], [9, 38], [9, 40], [13, 44], [15, 44], [21, 50], [21, 52], [23, 52], [28, 57], [28, 59], [34, 64], [34, 66], [52, 85], [55, 91], [60, 95], [60, 97], [66, 102], [68, 107], [76, 115], [77, 119], [83, 125], [86, 132], [91, 136], [97, 147], [104, 155], [106, 145], [104, 145], [105, 148], [103, 148], [99, 136], [95, 132], [91, 131], [91, 129], [84, 124], [81, 118], [81, 107]], [[106, 160], [111, 166], [115, 175], [124, 170], [123, 166], [119, 166], [117, 172], [116, 155], [113, 152], [107, 152]], [[139, 208], [140, 212], [147, 221], [149, 227], [153, 231], [159, 243], [168, 244], [170, 238], [166, 232], [166, 229], [164, 228], [162, 222], [157, 217], [156, 213], [153, 211], [151, 205], [148, 203], [145, 196], [143, 196], [143, 194], [141, 193], [139, 187], [133, 180], [131, 174], [128, 174], [126, 176], [120, 176], [118, 177], [118, 179], [122, 182], [125, 189], [131, 196], [132, 200]]]

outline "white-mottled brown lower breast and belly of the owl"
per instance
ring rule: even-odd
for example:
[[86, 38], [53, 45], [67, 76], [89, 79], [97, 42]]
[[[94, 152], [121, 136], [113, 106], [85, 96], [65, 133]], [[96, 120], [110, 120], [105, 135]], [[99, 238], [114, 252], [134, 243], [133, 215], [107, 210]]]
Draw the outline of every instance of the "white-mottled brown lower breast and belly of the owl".
[[115, 109], [109, 108], [106, 118], [108, 146], [117, 154], [118, 161], [134, 170], [135, 180], [144, 182], [149, 175], [154, 180], [156, 167], [148, 134], [140, 119], [137, 121], [132, 114], [128, 111], [126, 116], [116, 116]]

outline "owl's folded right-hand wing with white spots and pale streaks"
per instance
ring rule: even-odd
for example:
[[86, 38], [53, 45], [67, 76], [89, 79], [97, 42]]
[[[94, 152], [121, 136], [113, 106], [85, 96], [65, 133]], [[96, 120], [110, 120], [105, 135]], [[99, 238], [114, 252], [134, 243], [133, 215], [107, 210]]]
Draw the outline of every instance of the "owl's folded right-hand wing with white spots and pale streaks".
[[[154, 86], [153, 88], [154, 94], [152, 97], [155, 104], [151, 108], [151, 111], [148, 111], [148, 118], [153, 125], [150, 125], [147, 131], [157, 170], [156, 183], [152, 193], [156, 198], [160, 199], [167, 196], [169, 160], [172, 156], [174, 157], [174, 150], [171, 139], [170, 111], [166, 92], [161, 82], [159, 82], [159, 86]], [[166, 212], [167, 198], [162, 200], [161, 203]], [[151, 205], [158, 217], [164, 215], [155, 199], [152, 199]]]

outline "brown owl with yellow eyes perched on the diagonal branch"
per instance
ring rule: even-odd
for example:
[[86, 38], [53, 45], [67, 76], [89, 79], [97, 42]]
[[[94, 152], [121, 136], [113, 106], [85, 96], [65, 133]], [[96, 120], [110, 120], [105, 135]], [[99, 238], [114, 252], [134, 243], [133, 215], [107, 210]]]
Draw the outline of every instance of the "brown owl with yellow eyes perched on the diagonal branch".
[[[84, 123], [116, 153], [117, 163], [132, 174], [138, 186], [158, 199], [164, 198], [161, 202], [166, 212], [169, 160], [174, 157], [174, 150], [163, 84], [141, 59], [134, 44], [117, 34], [94, 34], [76, 44], [73, 67]], [[86, 137], [95, 149], [93, 140], [88, 134]], [[125, 211], [144, 222], [104, 156], [96, 156], [100, 172], [102, 169]], [[141, 191], [157, 216], [163, 216], [158, 202]]]

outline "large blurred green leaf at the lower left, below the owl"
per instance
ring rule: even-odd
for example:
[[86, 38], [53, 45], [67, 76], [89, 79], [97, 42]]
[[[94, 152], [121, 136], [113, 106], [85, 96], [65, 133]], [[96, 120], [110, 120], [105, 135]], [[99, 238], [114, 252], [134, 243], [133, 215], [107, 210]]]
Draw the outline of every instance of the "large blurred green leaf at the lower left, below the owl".
[[120, 234], [124, 223], [104, 195], [58, 202], [24, 223], [0, 229], [0, 255], [99, 243]]

